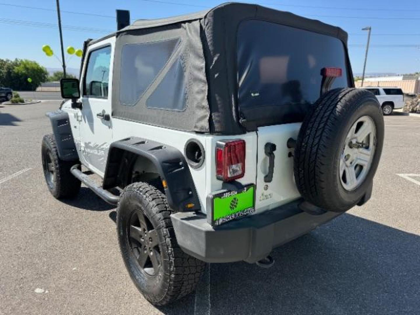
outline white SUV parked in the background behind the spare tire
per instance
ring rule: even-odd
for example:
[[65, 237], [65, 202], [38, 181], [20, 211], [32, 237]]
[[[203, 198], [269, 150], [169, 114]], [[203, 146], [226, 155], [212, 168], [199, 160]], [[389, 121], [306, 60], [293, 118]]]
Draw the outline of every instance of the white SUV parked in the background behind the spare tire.
[[383, 115], [391, 115], [394, 109], [404, 107], [404, 93], [399, 87], [363, 87], [363, 89], [376, 96]]

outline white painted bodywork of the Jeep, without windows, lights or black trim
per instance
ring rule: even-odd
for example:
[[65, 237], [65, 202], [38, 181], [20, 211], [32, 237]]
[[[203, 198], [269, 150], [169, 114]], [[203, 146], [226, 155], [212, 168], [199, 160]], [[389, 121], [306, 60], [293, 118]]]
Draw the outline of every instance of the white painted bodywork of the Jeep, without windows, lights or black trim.
[[[83, 165], [103, 177], [110, 144], [131, 136], [171, 145], [182, 153], [184, 153], [186, 142], [194, 138], [201, 142], [205, 148], [205, 162], [200, 168], [190, 167], [190, 172], [202, 212], [206, 213], [207, 196], [221, 190], [223, 185], [223, 181], [216, 178], [216, 143], [222, 139], [244, 139], [246, 143], [245, 175], [237, 181], [244, 185], [256, 184], [255, 213], [273, 209], [299, 198], [300, 195], [294, 183], [293, 157], [289, 157], [291, 150], [287, 148], [286, 142], [290, 137], [297, 138], [300, 123], [260, 127], [257, 132], [248, 132], [237, 136], [216, 136], [113, 118], [111, 100], [114, 44], [115, 37], [110, 37], [89, 46], [87, 52], [87, 56], [89, 56], [89, 52], [92, 50], [106, 45], [112, 47], [108, 98], [81, 97], [78, 101], [82, 102], [82, 110], [71, 108], [71, 101], [67, 101], [63, 105], [63, 110], [69, 113], [76, 148]], [[81, 91], [83, 91], [87, 61], [88, 58], [83, 65]], [[110, 114], [110, 121], [98, 118], [97, 113]], [[273, 181], [270, 183], [264, 182], [264, 176], [268, 173], [268, 157], [264, 153], [264, 146], [267, 142], [272, 142], [277, 147], [274, 152], [276, 157]]]

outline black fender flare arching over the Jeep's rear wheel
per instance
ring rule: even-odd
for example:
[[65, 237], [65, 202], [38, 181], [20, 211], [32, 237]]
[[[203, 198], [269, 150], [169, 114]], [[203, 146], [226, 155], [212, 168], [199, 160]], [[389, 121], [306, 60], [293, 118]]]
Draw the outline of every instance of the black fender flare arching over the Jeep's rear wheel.
[[[160, 178], [166, 181], [165, 194], [173, 210], [200, 210], [198, 194], [184, 155], [174, 147], [149, 139], [131, 137], [110, 145], [103, 189], [118, 185], [118, 174], [124, 152], [134, 153], [153, 163]], [[187, 208], [189, 204], [194, 206]]]

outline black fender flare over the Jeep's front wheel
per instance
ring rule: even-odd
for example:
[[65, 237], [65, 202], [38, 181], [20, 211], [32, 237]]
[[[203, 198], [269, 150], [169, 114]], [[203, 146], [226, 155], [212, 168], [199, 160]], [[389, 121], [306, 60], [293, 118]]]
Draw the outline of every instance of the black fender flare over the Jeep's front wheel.
[[51, 126], [53, 127], [58, 157], [63, 161], [79, 160], [68, 113], [63, 110], [56, 110], [45, 115], [50, 118]]

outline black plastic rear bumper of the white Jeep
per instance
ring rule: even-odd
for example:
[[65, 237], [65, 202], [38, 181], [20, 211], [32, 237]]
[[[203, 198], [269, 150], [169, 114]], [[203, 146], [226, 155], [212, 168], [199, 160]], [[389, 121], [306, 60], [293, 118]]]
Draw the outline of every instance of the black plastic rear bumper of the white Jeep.
[[212, 227], [202, 213], [171, 215], [179, 246], [205, 262], [257, 262], [282, 244], [302, 236], [341, 213], [310, 215], [301, 209], [302, 199], [263, 213]]

